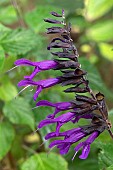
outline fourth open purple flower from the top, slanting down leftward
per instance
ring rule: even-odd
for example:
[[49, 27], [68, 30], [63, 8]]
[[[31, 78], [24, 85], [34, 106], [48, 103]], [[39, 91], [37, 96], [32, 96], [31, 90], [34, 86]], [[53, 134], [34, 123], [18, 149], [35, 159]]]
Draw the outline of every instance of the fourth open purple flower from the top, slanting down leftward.
[[68, 113], [62, 114], [59, 117], [54, 118], [54, 119], [45, 119], [45, 120], [42, 120], [39, 123], [38, 128], [42, 128], [43, 126], [47, 126], [47, 125], [52, 124], [52, 123], [57, 123], [57, 126], [56, 126], [56, 135], [58, 136], [59, 135], [59, 131], [60, 131], [60, 127], [63, 124], [71, 121], [74, 117], [75, 117], [75, 113], [68, 112]]

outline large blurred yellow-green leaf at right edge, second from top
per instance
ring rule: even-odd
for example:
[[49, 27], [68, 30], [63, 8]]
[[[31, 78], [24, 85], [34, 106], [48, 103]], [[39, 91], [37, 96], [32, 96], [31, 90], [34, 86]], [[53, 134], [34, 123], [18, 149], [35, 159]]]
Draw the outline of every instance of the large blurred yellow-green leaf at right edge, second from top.
[[97, 42], [107, 42], [113, 39], [113, 22], [111, 20], [100, 21], [94, 24], [87, 30], [87, 37], [89, 40], [94, 40]]

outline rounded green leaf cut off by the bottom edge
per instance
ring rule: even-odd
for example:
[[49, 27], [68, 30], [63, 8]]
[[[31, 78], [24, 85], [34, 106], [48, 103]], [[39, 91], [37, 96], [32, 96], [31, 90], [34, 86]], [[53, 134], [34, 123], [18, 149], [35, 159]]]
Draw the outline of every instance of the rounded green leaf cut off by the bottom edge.
[[21, 166], [21, 170], [68, 170], [68, 164], [64, 158], [55, 153], [40, 153], [31, 156]]

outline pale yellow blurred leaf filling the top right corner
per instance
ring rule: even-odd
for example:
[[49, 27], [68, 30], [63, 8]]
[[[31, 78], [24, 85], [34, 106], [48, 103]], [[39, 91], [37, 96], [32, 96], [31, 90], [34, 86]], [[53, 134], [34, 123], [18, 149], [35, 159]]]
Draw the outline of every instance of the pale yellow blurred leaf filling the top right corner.
[[86, 18], [94, 20], [105, 15], [111, 8], [113, 8], [113, 1], [110, 0], [88, 0], [86, 3], [87, 14]]

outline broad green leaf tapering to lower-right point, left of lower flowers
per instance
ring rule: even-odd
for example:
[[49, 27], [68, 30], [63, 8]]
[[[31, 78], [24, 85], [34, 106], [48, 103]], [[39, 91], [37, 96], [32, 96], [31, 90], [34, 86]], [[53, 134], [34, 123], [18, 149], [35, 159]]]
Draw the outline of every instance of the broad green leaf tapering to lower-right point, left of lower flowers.
[[24, 98], [18, 97], [7, 102], [3, 108], [3, 113], [12, 123], [28, 125], [34, 130], [35, 122], [33, 112]]

